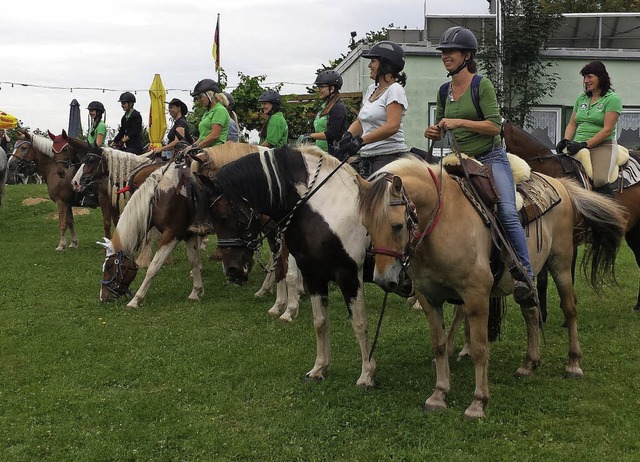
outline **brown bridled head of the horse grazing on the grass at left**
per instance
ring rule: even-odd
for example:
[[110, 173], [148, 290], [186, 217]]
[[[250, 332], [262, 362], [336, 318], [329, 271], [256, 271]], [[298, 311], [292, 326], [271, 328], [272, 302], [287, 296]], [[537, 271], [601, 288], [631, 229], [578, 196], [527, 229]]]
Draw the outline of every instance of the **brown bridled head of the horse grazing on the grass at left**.
[[97, 241], [96, 244], [106, 249], [100, 280], [100, 301], [109, 302], [122, 295], [131, 295], [129, 286], [138, 274], [135, 260], [122, 250], [116, 252], [113, 243], [106, 237], [104, 242]]

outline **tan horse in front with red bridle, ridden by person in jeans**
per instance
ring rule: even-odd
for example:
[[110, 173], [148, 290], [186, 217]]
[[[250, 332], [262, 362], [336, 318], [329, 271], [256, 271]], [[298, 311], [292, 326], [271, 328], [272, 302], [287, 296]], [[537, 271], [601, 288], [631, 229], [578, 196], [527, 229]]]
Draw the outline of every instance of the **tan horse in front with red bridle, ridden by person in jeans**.
[[[576, 294], [571, 277], [574, 229], [581, 224], [590, 236], [586, 258], [591, 262], [591, 283], [595, 285], [613, 269], [625, 219], [613, 201], [586, 191], [571, 180], [545, 180], [557, 190], [561, 201], [538, 219], [539, 223], [527, 226], [527, 243], [533, 270], [538, 271], [548, 261], [558, 287], [569, 335], [566, 375], [581, 377]], [[464, 304], [475, 367], [476, 388], [465, 416], [482, 418], [489, 400], [489, 299], [513, 290], [508, 272], [492, 289], [489, 228], [456, 181], [439, 166], [415, 157], [388, 164], [371, 183], [363, 181], [362, 187], [359, 212], [376, 254], [374, 281], [391, 290], [408, 264], [407, 272], [429, 320], [437, 378], [435, 391], [424, 409], [447, 406], [450, 379], [442, 305], [453, 301]], [[540, 364], [538, 309], [522, 306], [521, 311], [527, 325], [528, 349], [517, 374], [526, 376]]]

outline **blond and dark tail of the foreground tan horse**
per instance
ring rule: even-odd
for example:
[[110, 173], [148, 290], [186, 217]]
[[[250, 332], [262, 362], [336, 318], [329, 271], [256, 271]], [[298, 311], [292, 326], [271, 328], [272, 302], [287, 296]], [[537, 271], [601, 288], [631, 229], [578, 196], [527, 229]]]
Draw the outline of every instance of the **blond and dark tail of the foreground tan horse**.
[[576, 228], [580, 229], [581, 240], [586, 244], [582, 271], [587, 283], [598, 289], [607, 277], [615, 282], [616, 254], [627, 224], [624, 208], [602, 194], [580, 187], [573, 180], [559, 178], [559, 181], [569, 193], [578, 217]]

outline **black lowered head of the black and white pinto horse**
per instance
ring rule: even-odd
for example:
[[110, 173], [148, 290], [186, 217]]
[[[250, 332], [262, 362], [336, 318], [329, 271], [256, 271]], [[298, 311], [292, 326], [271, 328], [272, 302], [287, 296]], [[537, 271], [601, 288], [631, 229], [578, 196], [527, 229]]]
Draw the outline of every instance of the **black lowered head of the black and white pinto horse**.
[[208, 177], [200, 176], [208, 190], [210, 218], [222, 257], [224, 274], [234, 284], [247, 281], [253, 266], [253, 252], [261, 244], [261, 215], [242, 199], [230, 200]]

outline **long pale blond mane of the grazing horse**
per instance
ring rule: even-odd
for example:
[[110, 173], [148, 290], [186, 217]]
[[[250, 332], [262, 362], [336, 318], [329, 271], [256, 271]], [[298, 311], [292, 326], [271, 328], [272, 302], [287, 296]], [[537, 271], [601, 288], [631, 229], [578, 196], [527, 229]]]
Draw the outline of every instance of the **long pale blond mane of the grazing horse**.
[[153, 199], [163, 173], [164, 169], [162, 168], [151, 173], [135, 194], [131, 195], [127, 206], [120, 215], [114, 231], [114, 239], [117, 235], [121, 249], [128, 255], [133, 255], [147, 240]]

